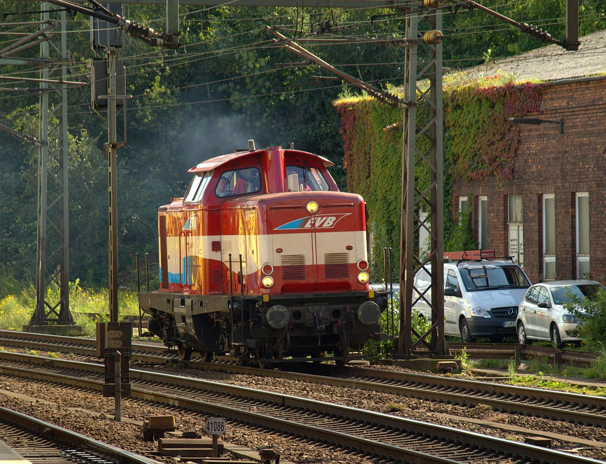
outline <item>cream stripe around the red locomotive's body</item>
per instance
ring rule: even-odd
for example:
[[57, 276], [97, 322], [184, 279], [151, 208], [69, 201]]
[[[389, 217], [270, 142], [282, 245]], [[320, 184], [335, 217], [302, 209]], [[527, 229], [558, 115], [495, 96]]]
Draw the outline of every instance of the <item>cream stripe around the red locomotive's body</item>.
[[[361, 259], [367, 259], [365, 239], [365, 231], [322, 232], [316, 234], [315, 242], [312, 242], [312, 234], [167, 237], [168, 272], [178, 274], [185, 256], [223, 260], [227, 266], [229, 253], [231, 253], [234, 271], [239, 268], [239, 254], [242, 253], [244, 274], [259, 271], [261, 265], [266, 262], [279, 266], [282, 256], [303, 256], [305, 265], [311, 265], [314, 262], [314, 254], [318, 264], [325, 264], [326, 260], [351, 264]], [[179, 242], [181, 242], [180, 252]], [[213, 251], [213, 242], [215, 250], [218, 248], [217, 242], [219, 242], [221, 251]], [[353, 250], [347, 250], [345, 248], [347, 245], [351, 245]], [[281, 248], [281, 253], [276, 253], [278, 248]], [[185, 250], [187, 250], [187, 255]], [[344, 254], [347, 254], [347, 261], [343, 261]]]

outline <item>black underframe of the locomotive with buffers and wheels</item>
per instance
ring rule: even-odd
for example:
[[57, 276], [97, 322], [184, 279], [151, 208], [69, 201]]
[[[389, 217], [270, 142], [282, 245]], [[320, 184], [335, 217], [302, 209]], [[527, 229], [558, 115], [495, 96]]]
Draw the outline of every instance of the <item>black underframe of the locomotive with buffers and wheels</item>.
[[[168, 299], [173, 302], [170, 307], [165, 303]], [[371, 299], [371, 292], [238, 297], [233, 301], [225, 296], [151, 292], [142, 293], [141, 301], [147, 302], [145, 313], [152, 315], [150, 331], [167, 346], [207, 356], [233, 351], [229, 348], [235, 345], [236, 354], [263, 356], [265, 364], [287, 362], [289, 357], [319, 359], [322, 353], [345, 360], [347, 352], [359, 350], [369, 334], [381, 333], [377, 320], [384, 309], [384, 299]], [[158, 303], [164, 309], [155, 308]], [[376, 308], [377, 320], [369, 320], [364, 311], [366, 319], [360, 317], [364, 305]], [[276, 320], [273, 313], [282, 316], [277, 327], [271, 323]]]

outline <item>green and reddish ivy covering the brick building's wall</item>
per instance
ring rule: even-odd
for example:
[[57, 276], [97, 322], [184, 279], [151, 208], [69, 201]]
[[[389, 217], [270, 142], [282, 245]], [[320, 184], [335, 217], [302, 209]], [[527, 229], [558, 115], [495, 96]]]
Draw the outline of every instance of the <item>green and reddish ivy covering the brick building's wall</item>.
[[[471, 181], [487, 176], [513, 179], [520, 130], [508, 118], [521, 118], [541, 110], [543, 85], [513, 84], [503, 80], [494, 77], [444, 88], [446, 251], [458, 250], [461, 243], [468, 244], [467, 248], [473, 243], [469, 237], [469, 221], [453, 224], [451, 194], [454, 179], [462, 177]], [[341, 114], [347, 188], [361, 194], [367, 202], [370, 217], [367, 227], [374, 237], [373, 278], [383, 275], [384, 247], [392, 248], [394, 278], [397, 278], [403, 110], [364, 97], [342, 98], [335, 102], [335, 107]], [[396, 128], [393, 125], [397, 123], [397, 130], [388, 130]], [[426, 142], [420, 140], [418, 143]], [[417, 187], [422, 188], [427, 181], [428, 173], [419, 170], [415, 180]]]

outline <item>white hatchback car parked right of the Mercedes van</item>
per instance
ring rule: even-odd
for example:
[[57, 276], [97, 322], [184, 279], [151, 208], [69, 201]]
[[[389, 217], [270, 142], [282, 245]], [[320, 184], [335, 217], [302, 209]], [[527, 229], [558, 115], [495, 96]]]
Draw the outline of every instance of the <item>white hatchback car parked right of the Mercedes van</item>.
[[565, 342], [579, 342], [578, 320], [564, 305], [571, 302], [571, 295], [583, 300], [602, 289], [601, 283], [586, 279], [554, 280], [528, 288], [516, 320], [518, 341], [529, 345], [532, 340], [551, 340], [558, 348]]

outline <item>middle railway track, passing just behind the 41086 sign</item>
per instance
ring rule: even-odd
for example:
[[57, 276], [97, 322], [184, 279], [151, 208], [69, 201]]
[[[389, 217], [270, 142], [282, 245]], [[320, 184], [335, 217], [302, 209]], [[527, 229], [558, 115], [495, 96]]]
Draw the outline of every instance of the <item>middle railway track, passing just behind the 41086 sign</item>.
[[[101, 390], [104, 366], [0, 353], [5, 375]], [[130, 370], [132, 396], [221, 415], [314, 442], [335, 443], [379, 459], [411, 463], [553, 463], [601, 461], [459, 429], [242, 386]], [[603, 464], [603, 462], [602, 462]]]

